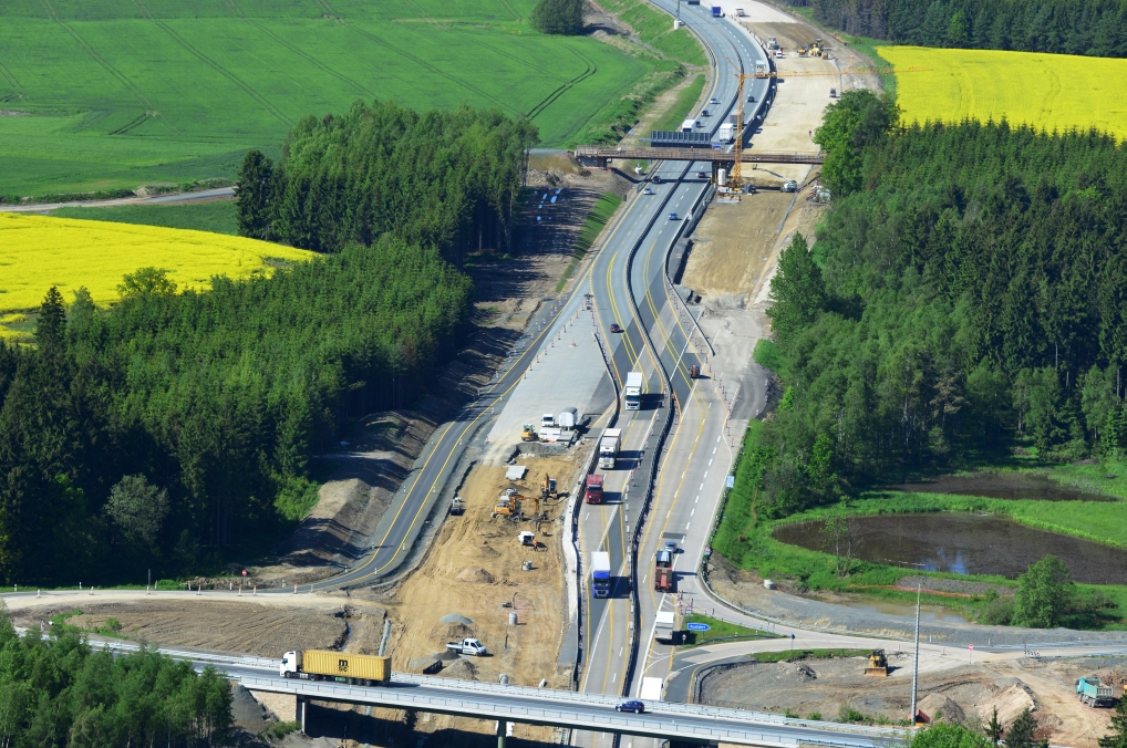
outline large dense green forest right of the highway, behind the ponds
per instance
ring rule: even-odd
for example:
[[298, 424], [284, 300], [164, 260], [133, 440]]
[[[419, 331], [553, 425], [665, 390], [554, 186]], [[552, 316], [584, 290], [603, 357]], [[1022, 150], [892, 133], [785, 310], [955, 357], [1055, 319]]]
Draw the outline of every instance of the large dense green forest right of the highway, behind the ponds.
[[769, 516], [1013, 448], [1127, 448], [1127, 150], [889, 112], [867, 91], [829, 108], [835, 205], [772, 282], [789, 381], [751, 455]]

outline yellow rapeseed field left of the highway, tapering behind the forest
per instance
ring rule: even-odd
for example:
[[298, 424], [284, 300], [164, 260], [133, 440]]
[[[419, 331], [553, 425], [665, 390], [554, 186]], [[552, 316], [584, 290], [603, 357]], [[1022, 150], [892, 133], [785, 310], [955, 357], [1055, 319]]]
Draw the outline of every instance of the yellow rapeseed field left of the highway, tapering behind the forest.
[[245, 278], [313, 252], [256, 239], [132, 223], [0, 213], [0, 327], [5, 312], [38, 306], [51, 286], [70, 303], [86, 286], [95, 303], [116, 301], [122, 276], [168, 270], [177, 288], [208, 288], [213, 275]]

